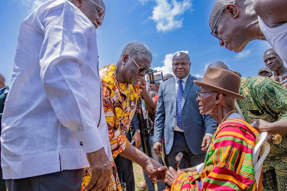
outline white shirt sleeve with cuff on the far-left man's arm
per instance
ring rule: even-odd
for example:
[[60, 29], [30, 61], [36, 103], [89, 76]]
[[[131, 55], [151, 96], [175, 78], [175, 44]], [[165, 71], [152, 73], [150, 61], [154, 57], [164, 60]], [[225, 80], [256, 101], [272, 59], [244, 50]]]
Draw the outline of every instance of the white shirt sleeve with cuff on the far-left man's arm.
[[[48, 9], [43, 27], [40, 78], [46, 96], [59, 121], [75, 132], [82, 149], [86, 153], [97, 151], [104, 145], [85, 95], [80, 72], [85, 64], [91, 24], [77, 11], [64, 7]], [[95, 95], [94, 99], [101, 102], [99, 95]]]

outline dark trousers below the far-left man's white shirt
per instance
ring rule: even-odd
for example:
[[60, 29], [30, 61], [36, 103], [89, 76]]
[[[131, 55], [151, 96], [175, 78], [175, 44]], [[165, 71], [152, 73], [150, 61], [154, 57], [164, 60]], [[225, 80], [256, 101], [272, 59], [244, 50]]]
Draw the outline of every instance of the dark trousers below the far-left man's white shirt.
[[9, 191], [81, 191], [84, 169], [63, 170], [21, 179], [8, 179]]

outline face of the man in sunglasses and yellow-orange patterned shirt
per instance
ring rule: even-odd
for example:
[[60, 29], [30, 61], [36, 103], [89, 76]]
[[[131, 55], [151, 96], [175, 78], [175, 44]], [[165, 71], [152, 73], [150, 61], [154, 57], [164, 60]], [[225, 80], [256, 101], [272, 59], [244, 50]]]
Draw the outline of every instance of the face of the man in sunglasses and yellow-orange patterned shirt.
[[[150, 61], [148, 59], [133, 58], [139, 67], [150, 67]], [[121, 83], [128, 83], [131, 85], [137, 85], [146, 74], [144, 71], [139, 72], [137, 65], [131, 59], [128, 54], [123, 54], [122, 59], [117, 62], [116, 65], [116, 77]]]

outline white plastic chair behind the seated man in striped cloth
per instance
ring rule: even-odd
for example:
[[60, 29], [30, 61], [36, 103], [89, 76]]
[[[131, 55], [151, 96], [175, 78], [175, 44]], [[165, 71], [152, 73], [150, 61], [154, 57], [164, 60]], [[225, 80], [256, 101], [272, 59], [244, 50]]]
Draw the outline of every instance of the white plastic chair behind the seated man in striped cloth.
[[[256, 188], [258, 188], [261, 170], [263, 167], [263, 161], [265, 160], [266, 156], [270, 151], [270, 144], [265, 141], [266, 137], [267, 132], [261, 132], [259, 135], [259, 141], [252, 151], [253, 168], [255, 172], [255, 180], [257, 182]], [[260, 159], [258, 160], [259, 156]]]

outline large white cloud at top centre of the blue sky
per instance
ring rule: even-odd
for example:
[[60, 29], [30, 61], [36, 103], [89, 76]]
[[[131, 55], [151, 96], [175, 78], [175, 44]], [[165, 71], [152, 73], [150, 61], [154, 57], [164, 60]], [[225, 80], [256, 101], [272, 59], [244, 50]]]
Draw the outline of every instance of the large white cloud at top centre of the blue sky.
[[[147, 0], [140, 0], [147, 1]], [[156, 6], [152, 11], [150, 19], [156, 23], [156, 29], [158, 32], [167, 32], [172, 29], [181, 28], [183, 24], [183, 18], [179, 18], [185, 11], [191, 10], [192, 0], [155, 0]]]

